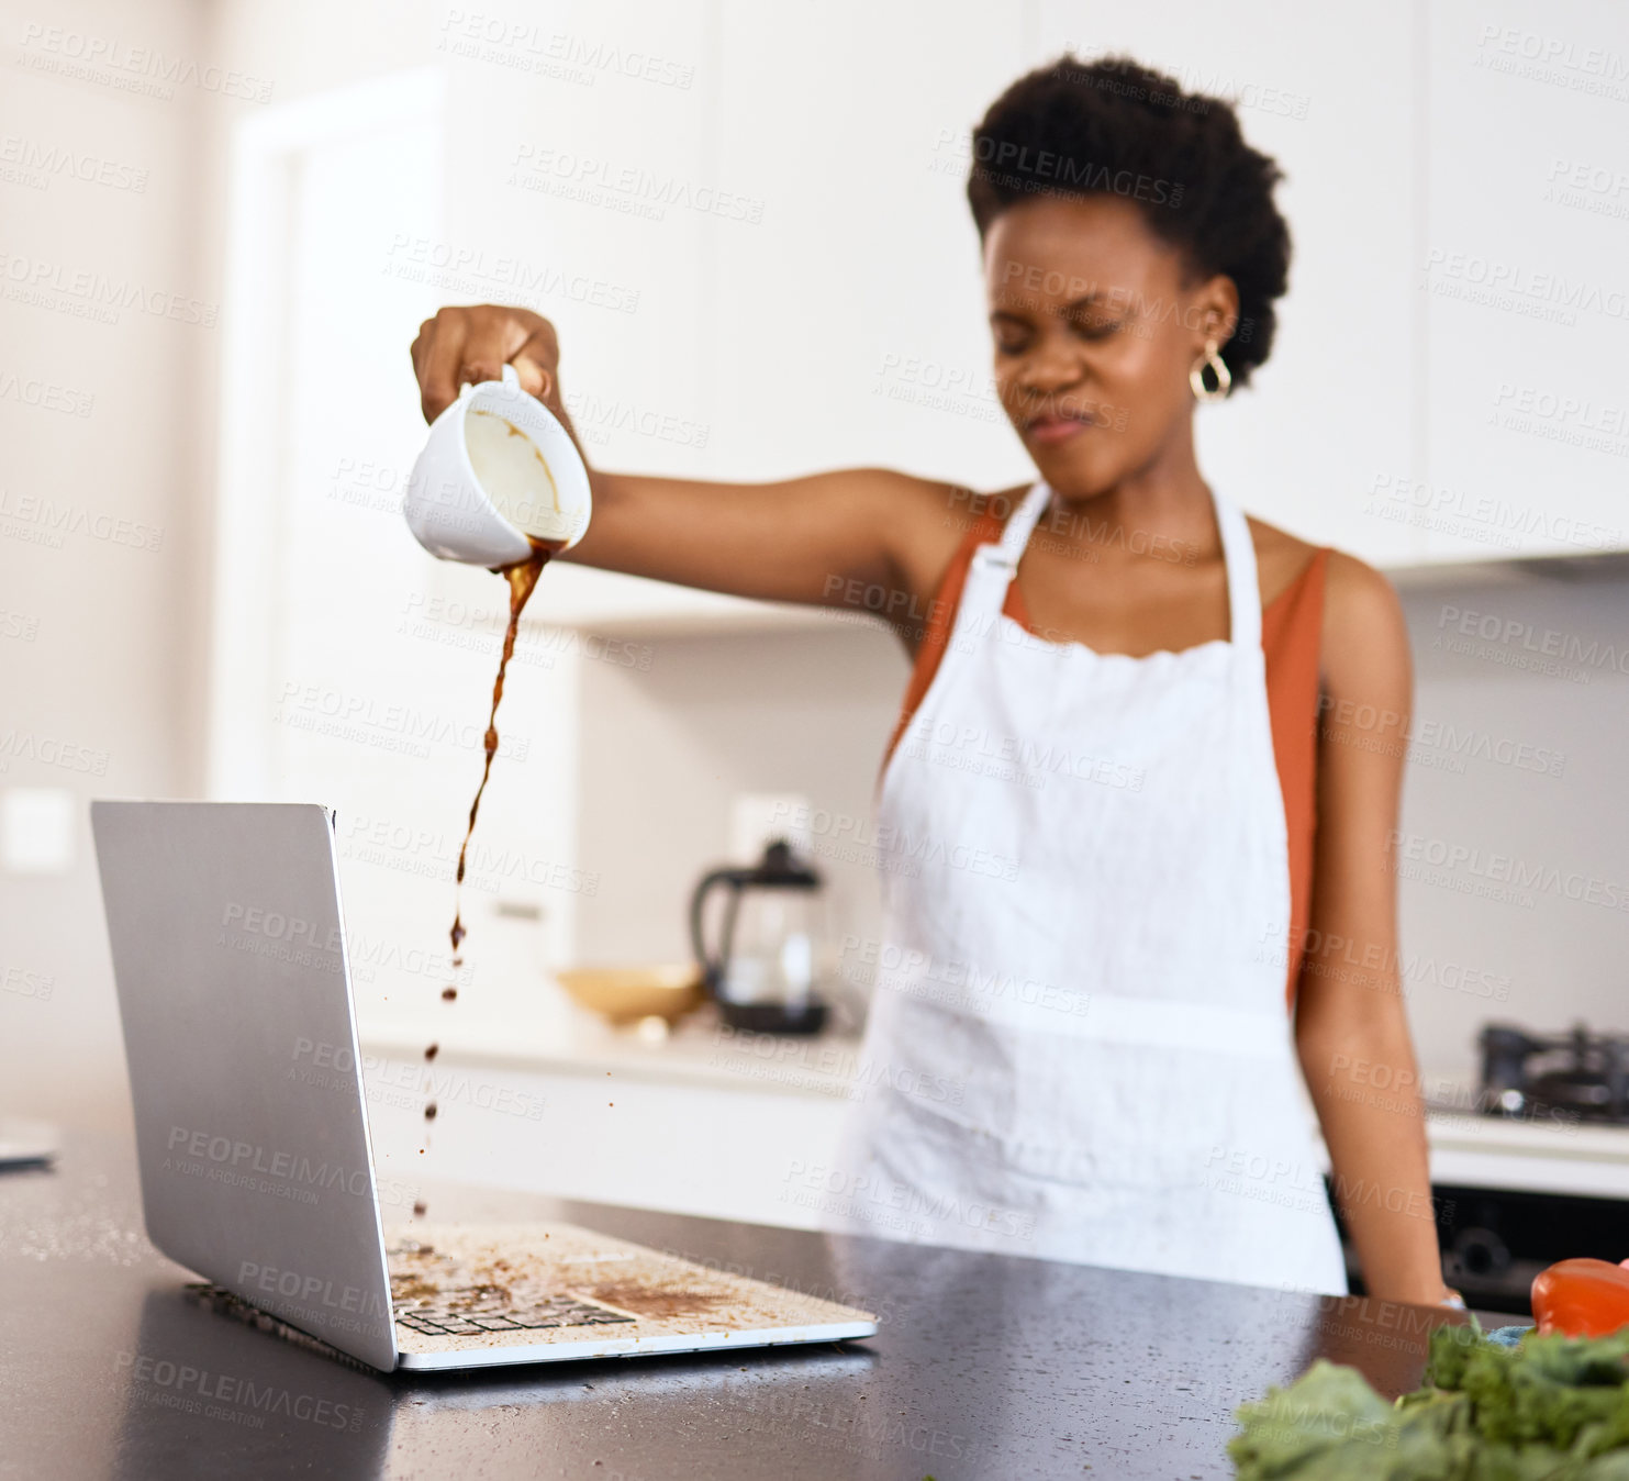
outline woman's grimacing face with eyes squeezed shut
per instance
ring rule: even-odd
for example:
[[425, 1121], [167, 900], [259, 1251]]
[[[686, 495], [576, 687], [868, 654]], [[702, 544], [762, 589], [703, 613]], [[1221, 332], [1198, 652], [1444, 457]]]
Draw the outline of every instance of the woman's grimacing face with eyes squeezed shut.
[[995, 385], [1041, 477], [1090, 499], [1186, 448], [1188, 371], [1238, 314], [1232, 279], [1184, 257], [1117, 196], [1036, 197], [984, 240]]

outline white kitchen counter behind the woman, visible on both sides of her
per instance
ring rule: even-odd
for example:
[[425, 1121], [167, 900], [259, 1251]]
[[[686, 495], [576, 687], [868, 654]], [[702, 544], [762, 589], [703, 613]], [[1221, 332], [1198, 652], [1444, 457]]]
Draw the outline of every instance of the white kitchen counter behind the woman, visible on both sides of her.
[[[854, 1039], [731, 1038], [699, 1015], [642, 1044], [578, 1018], [552, 1053], [437, 1061], [427, 1139], [415, 1046], [363, 1048], [375, 1162], [407, 1204], [420, 1180], [446, 1180], [819, 1228], [844, 1116], [872, 1080]], [[1461, 1087], [1455, 1103], [1471, 1098]], [[1302, 1108], [1313, 1116], [1305, 1092]], [[1437, 1183], [1629, 1198], [1624, 1127], [1432, 1113], [1427, 1136]], [[1318, 1158], [1326, 1171], [1321, 1140]]]

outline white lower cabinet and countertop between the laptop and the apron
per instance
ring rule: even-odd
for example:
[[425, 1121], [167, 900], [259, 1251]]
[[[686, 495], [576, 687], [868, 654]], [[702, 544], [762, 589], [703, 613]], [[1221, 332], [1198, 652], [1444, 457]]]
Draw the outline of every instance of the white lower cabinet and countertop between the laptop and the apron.
[[810, 1180], [832, 1165], [857, 1046], [785, 1049], [705, 1030], [643, 1046], [588, 1025], [555, 1053], [454, 1054], [427, 1079], [415, 1044], [368, 1044], [375, 1162], [388, 1188], [448, 1180], [816, 1228]]

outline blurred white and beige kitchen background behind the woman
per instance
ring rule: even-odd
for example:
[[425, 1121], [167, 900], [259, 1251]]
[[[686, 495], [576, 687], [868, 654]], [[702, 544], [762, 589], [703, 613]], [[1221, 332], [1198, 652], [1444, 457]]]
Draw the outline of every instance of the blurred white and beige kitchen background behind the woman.
[[[419, 1136], [389, 1087], [435, 1038], [469, 1077], [464, 1113], [441, 1096], [446, 1176], [806, 1222], [788, 1170], [863, 1093], [906, 658], [858, 613], [546, 572], [450, 1009], [505, 591], [401, 520], [407, 347], [443, 303], [547, 314], [608, 468], [1013, 482], [968, 134], [1064, 49], [1235, 98], [1287, 174], [1279, 341], [1199, 415], [1202, 461], [1407, 603], [1403, 973], [1464, 1113], [1434, 1119], [1435, 1176], [1629, 1194], [1611, 1046], [1608, 1088], [1577, 1092], [1600, 1126], [1546, 1140], [1474, 1105], [1487, 1022], [1629, 1033], [1629, 16], [1606, 0], [0, 3], [0, 1110], [127, 1114], [86, 798], [314, 800], [381, 1157]], [[775, 831], [826, 880], [831, 1033], [613, 1028], [569, 999], [565, 968], [686, 963], [696, 880]]]

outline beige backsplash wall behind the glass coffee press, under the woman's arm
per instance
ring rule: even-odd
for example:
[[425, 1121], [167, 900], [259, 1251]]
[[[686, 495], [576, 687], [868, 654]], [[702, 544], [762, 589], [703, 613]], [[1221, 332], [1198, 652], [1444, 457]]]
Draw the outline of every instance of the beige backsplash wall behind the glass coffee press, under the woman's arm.
[[733, 800], [754, 793], [787, 797], [767, 813], [826, 877], [839, 951], [844, 935], [875, 938], [872, 798], [909, 676], [893, 634], [665, 637], [648, 658], [583, 671], [596, 740], [580, 771], [580, 862], [598, 888], [578, 907], [582, 960], [684, 960], [689, 886], [751, 862], [731, 852], [730, 823]]

